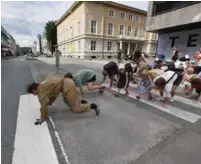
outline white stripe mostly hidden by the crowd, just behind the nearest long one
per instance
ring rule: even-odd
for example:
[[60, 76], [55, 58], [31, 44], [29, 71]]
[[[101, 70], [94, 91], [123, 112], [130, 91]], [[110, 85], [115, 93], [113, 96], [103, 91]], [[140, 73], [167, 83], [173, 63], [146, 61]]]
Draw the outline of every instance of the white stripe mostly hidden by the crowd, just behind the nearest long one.
[[[137, 87], [137, 84], [130, 83], [129, 85], [131, 87], [133, 87], [133, 88]], [[153, 94], [160, 96], [159, 92], [154, 92]], [[191, 106], [193, 106], [195, 108], [198, 108], [198, 106], [199, 106], [199, 104], [195, 103], [193, 100], [189, 100], [187, 98], [184, 98], [184, 97], [181, 97], [181, 96], [177, 96], [177, 95], [174, 96], [174, 100], [179, 101], [179, 102], [181, 102], [183, 104], [186, 104], [186, 105], [191, 105]]]

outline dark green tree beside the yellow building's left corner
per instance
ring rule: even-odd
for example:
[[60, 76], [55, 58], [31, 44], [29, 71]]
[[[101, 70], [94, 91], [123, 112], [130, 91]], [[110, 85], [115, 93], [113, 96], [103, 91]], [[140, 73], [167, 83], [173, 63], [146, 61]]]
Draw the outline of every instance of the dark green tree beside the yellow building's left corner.
[[57, 44], [57, 26], [56, 21], [48, 21], [45, 24], [45, 36], [48, 42], [49, 50], [54, 52], [54, 45]]

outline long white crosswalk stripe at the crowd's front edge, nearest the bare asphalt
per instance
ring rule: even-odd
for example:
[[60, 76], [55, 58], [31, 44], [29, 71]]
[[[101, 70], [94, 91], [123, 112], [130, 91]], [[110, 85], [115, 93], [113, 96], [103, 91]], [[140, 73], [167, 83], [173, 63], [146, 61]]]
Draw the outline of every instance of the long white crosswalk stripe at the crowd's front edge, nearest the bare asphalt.
[[[106, 87], [109, 87], [109, 84], [105, 84], [105, 86], [106, 86]], [[113, 90], [113, 91], [117, 91], [116, 88], [112, 88], [112, 90]], [[125, 91], [124, 91], [124, 90], [121, 90], [120, 93], [121, 93], [121, 94], [125, 94]], [[128, 96], [129, 96], [130, 98], [132, 98], [132, 99], [137, 100], [137, 99], [136, 99], [136, 95], [137, 95], [137, 94], [134, 93], [134, 92], [129, 92], [129, 95], [128, 95]], [[159, 109], [159, 110], [161, 110], [161, 111], [164, 111], [164, 112], [166, 112], [166, 113], [169, 113], [169, 114], [171, 114], [171, 115], [174, 115], [174, 116], [176, 116], [176, 117], [179, 117], [179, 118], [181, 118], [181, 119], [183, 119], [183, 120], [189, 121], [189, 122], [191, 122], [191, 123], [195, 123], [197, 120], [199, 120], [199, 119], [201, 118], [200, 115], [197, 115], [197, 114], [194, 114], [194, 113], [190, 113], [190, 112], [181, 110], [181, 109], [179, 109], [179, 108], [175, 108], [175, 107], [170, 106], [170, 105], [169, 105], [168, 108], [164, 108], [164, 107], [162, 106], [162, 104], [159, 105], [159, 104], [157, 104], [156, 102], [153, 102], [153, 101], [148, 101], [148, 100], [145, 100], [145, 99], [141, 99], [140, 101], [143, 102], [143, 103], [145, 103], [145, 104], [148, 104], [148, 105], [150, 105], [150, 106], [153, 106], [153, 107], [155, 107], [155, 108], [157, 108], [157, 109]]]

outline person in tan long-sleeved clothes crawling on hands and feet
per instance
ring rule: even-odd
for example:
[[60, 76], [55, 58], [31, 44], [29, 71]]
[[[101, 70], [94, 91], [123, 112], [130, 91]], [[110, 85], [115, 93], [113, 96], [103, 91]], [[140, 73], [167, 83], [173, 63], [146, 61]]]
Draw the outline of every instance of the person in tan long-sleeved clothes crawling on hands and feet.
[[42, 124], [47, 119], [47, 107], [52, 105], [60, 93], [62, 93], [64, 102], [70, 107], [72, 112], [82, 113], [93, 109], [96, 115], [100, 113], [95, 103], [81, 104], [75, 83], [68, 78], [58, 77], [46, 80], [43, 83], [31, 83], [27, 86], [27, 92], [37, 95], [41, 105], [41, 118], [36, 120], [35, 125]]

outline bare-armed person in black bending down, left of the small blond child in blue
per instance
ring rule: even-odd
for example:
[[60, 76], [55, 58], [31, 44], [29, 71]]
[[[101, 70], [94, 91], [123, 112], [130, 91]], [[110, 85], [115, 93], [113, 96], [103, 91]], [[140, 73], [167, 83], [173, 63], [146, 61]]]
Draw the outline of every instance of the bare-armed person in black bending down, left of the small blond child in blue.
[[118, 80], [117, 80], [118, 90], [117, 90], [117, 93], [114, 94], [116, 97], [119, 97], [119, 93], [121, 89], [123, 88], [126, 91], [126, 94], [127, 95], [129, 94], [128, 87], [129, 87], [132, 74], [133, 74], [133, 68], [130, 63], [126, 63], [124, 69], [123, 68], [119, 69]]

